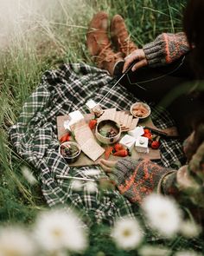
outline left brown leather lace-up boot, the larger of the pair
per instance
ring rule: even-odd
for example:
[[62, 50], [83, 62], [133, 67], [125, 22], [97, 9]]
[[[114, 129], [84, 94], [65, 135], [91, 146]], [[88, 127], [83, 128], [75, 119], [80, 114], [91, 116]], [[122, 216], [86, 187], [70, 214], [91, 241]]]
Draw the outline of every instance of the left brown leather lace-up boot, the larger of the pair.
[[124, 61], [121, 53], [114, 53], [107, 36], [108, 16], [100, 11], [93, 16], [86, 34], [86, 44], [90, 54], [100, 69], [108, 70], [113, 75], [117, 62]]

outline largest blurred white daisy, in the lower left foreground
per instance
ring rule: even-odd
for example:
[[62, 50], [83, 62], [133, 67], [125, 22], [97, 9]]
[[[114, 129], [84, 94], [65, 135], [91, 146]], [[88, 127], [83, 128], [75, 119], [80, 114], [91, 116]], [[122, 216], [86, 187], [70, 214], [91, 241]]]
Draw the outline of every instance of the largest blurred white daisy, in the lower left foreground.
[[75, 214], [62, 209], [41, 213], [36, 220], [34, 234], [46, 251], [68, 249], [80, 252], [87, 246], [83, 224]]

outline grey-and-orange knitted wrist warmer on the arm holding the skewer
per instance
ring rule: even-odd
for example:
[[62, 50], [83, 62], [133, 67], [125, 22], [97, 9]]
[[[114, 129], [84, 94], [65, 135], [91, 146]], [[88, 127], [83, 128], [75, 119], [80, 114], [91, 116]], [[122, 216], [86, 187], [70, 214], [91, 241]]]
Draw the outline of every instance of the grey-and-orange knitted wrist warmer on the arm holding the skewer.
[[163, 33], [152, 43], [143, 46], [146, 59], [151, 67], [163, 66], [174, 62], [189, 51], [187, 37], [183, 32]]

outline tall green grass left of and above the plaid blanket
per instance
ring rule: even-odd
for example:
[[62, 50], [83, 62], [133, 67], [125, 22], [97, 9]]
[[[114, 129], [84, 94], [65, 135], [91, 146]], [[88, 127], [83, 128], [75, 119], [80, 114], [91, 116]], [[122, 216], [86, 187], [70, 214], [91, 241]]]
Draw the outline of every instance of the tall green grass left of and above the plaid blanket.
[[42, 1], [33, 2], [39, 6], [30, 9], [31, 14], [29, 7], [20, 6], [23, 14], [20, 26], [11, 26], [8, 40], [0, 49], [0, 220], [3, 223], [32, 222], [36, 213], [47, 207], [40, 184], [31, 186], [22, 176], [21, 168], [27, 163], [15, 153], [8, 138], [8, 129], [15, 124], [23, 102], [37, 87], [43, 72], [67, 61], [92, 64], [86, 50], [86, 30], [93, 13], [99, 10], [110, 16], [116, 13], [124, 16], [133, 40], [142, 46], [163, 31], [181, 31], [186, 4], [186, 0], [50, 0], [43, 1], [45, 6]]

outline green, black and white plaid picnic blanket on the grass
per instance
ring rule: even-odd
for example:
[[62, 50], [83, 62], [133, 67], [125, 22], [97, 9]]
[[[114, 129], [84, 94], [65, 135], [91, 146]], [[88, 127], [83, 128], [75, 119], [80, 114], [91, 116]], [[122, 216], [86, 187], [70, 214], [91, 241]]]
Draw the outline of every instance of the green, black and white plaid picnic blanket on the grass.
[[[41, 189], [50, 207], [69, 206], [80, 209], [85, 216], [93, 216], [96, 222], [112, 224], [122, 215], [134, 216], [131, 203], [118, 191], [95, 192], [81, 187], [76, 191], [72, 181], [57, 180], [56, 174], [89, 177], [86, 170], [90, 167], [69, 167], [58, 154], [56, 117], [80, 109], [88, 113], [85, 103], [92, 98], [99, 102], [112, 88], [115, 81], [105, 70], [88, 66], [84, 63], [64, 64], [56, 70], [46, 71], [35, 92], [25, 102], [22, 113], [16, 124], [10, 128], [10, 139], [26, 161], [37, 170]], [[137, 98], [123, 86], [112, 89], [101, 102], [102, 108], [130, 109]], [[174, 125], [167, 113], [153, 111], [152, 120], [158, 128]], [[170, 167], [182, 158], [182, 147], [179, 141], [162, 140], [161, 164]], [[105, 176], [103, 171], [95, 176]], [[74, 189], [73, 189], [74, 188]], [[118, 207], [120, 206], [120, 207]]]

